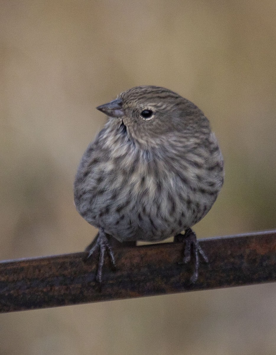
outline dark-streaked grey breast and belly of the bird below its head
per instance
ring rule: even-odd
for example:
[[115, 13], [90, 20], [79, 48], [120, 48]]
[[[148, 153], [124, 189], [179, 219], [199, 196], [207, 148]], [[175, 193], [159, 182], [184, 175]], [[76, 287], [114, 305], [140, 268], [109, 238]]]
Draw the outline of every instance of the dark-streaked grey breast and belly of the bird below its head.
[[142, 151], [121, 135], [106, 137], [94, 152], [79, 168], [76, 206], [119, 240], [179, 233], [209, 211], [222, 185], [206, 154]]

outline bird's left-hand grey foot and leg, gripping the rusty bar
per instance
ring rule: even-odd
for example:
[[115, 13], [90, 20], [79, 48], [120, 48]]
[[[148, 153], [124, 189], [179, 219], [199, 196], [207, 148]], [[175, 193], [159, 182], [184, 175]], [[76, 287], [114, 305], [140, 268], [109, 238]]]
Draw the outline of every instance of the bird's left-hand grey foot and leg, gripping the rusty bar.
[[89, 244], [85, 250], [88, 251], [87, 259], [90, 258], [96, 251], [99, 250], [100, 252], [96, 281], [101, 283], [102, 275], [103, 275], [104, 256], [106, 251], [109, 254], [110, 261], [112, 263], [113, 268], [114, 269], [116, 268], [115, 257], [114, 257], [113, 250], [110, 246], [108, 234], [106, 234], [105, 231], [102, 228], [100, 228], [99, 233], [96, 235], [93, 242]]

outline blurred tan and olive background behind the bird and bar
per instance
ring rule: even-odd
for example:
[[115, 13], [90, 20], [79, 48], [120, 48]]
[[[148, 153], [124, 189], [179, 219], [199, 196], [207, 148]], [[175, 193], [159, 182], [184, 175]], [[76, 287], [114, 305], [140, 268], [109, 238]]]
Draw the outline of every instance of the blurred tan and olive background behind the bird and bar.
[[[275, 1], [0, 2], [0, 259], [82, 251], [79, 160], [127, 88], [210, 119], [225, 184], [198, 237], [273, 229]], [[218, 251], [219, 252], [219, 251]], [[276, 353], [275, 284], [0, 315], [1, 355]]]

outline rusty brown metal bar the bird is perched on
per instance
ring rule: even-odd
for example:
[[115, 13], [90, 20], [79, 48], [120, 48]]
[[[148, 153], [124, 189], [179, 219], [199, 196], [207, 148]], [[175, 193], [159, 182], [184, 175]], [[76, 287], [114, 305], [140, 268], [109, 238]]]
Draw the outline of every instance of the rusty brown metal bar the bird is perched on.
[[195, 284], [181, 265], [182, 243], [115, 247], [117, 271], [106, 258], [103, 284], [96, 260], [74, 253], [0, 262], [0, 312], [276, 281], [276, 231], [200, 240], [209, 258]]

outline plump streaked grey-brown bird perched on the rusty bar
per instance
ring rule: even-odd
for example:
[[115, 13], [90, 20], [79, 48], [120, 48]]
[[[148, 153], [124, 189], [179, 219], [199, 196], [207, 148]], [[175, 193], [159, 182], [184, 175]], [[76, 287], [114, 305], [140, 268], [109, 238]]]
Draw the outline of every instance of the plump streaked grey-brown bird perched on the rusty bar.
[[[208, 257], [192, 226], [214, 204], [224, 180], [222, 153], [209, 120], [191, 101], [158, 86], [138, 86], [97, 107], [104, 128], [88, 145], [74, 181], [78, 213], [99, 229], [87, 258], [99, 255], [103, 280], [112, 240], [157, 242], [171, 236], [184, 245], [182, 263]], [[183, 234], [184, 232], [184, 234]]]

